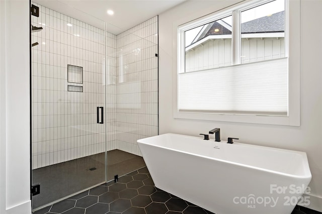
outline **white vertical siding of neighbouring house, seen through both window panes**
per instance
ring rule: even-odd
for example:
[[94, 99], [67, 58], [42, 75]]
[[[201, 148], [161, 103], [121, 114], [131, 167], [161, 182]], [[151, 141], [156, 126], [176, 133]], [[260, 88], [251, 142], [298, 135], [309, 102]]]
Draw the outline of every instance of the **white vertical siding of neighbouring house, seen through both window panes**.
[[[241, 63], [285, 57], [284, 38], [241, 39]], [[232, 64], [231, 39], [208, 40], [186, 51], [186, 72]]]

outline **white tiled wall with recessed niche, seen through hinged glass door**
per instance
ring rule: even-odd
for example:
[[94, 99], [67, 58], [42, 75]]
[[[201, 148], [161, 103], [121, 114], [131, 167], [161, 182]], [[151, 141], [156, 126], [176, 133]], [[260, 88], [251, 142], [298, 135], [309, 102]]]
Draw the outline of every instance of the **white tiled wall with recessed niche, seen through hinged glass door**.
[[[37, 6], [32, 25], [43, 30], [32, 33], [39, 43], [32, 48], [33, 169], [106, 149], [105, 124], [96, 121], [96, 107], [105, 106], [105, 32]], [[68, 64], [83, 67], [83, 83], [67, 83]]]

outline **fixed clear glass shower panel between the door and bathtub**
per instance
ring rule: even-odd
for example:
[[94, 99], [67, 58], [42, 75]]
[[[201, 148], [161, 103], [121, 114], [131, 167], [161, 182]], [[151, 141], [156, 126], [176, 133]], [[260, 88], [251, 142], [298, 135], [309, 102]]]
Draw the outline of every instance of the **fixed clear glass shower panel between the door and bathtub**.
[[144, 167], [136, 141], [158, 134], [157, 23], [107, 33], [108, 181]]

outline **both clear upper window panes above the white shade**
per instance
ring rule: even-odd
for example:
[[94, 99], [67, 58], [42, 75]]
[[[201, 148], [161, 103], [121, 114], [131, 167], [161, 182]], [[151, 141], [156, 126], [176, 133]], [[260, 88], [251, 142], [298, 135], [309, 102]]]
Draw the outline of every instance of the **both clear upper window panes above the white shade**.
[[285, 0], [260, 1], [214, 15], [206, 24], [183, 26], [185, 65], [180, 72], [285, 57], [284, 5]]

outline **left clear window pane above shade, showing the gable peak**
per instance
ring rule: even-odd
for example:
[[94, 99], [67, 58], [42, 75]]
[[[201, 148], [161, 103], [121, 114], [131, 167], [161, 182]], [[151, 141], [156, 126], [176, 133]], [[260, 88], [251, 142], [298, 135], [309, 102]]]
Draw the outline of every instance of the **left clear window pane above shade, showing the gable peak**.
[[185, 31], [184, 72], [232, 65], [231, 22], [230, 15]]

